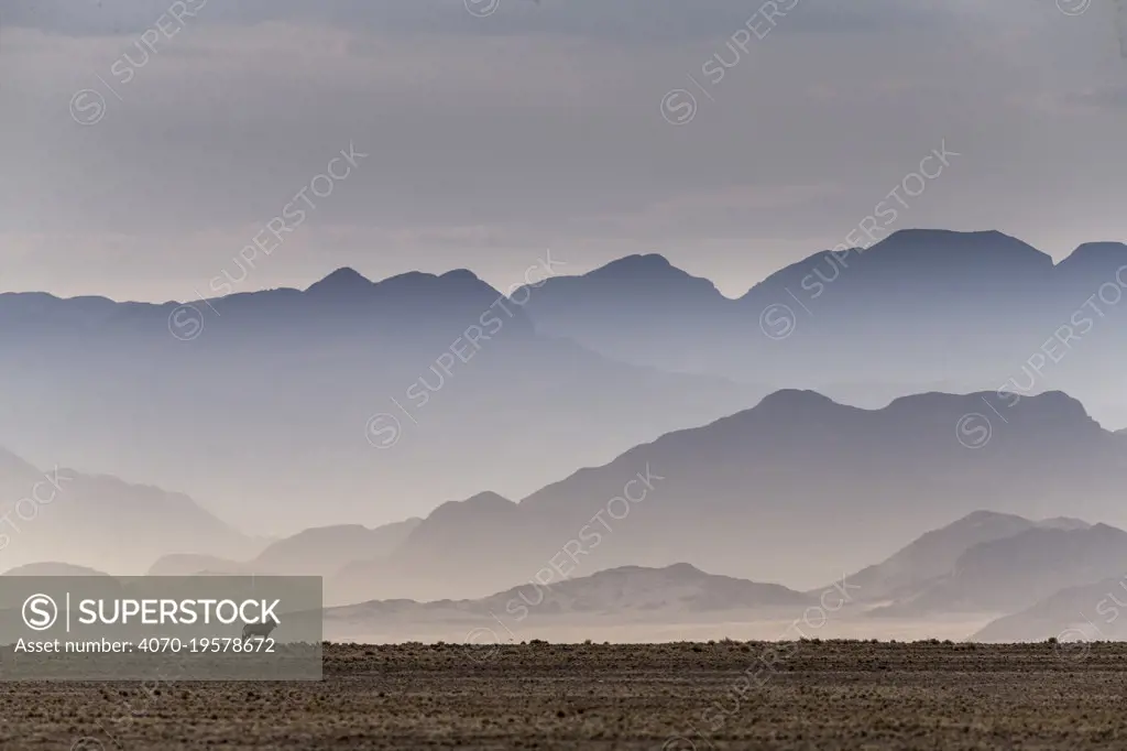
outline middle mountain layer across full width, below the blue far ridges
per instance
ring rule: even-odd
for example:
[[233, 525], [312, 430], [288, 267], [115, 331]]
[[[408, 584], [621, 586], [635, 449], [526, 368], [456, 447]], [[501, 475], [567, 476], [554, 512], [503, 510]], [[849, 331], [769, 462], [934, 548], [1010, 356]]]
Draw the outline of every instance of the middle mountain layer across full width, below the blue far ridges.
[[[959, 431], [978, 410], [995, 418], [982, 445]], [[18, 497], [43, 474], [8, 456], [8, 497]], [[855, 571], [867, 597], [903, 600], [937, 586], [935, 577], [969, 555], [968, 540], [988, 546], [1046, 528], [1077, 539], [1094, 534], [1072, 519], [969, 518], [960, 522], [965, 530], [939, 530], [894, 556], [895, 541], [925, 534], [952, 514], [987, 509], [1127, 524], [1118, 503], [1127, 445], [1055, 391], [1017, 406], [995, 394], [923, 394], [880, 409], [778, 391], [751, 409], [565, 475], [518, 502], [485, 492], [421, 519], [313, 528], [269, 545], [187, 496], [107, 477], [96, 478], [91, 495], [91, 480], [78, 477], [83, 514], [52, 513], [66, 507], [60, 493], [60, 503], [34, 529], [28, 524], [43, 544], [33, 546], [30, 531], [14, 540], [9, 556], [23, 553], [9, 557], [11, 565], [62, 557], [115, 574], [312, 573], [326, 577], [328, 601], [337, 603], [480, 598], [565, 574], [677, 563], [797, 590]], [[57, 528], [48, 523], [56, 515]], [[105, 553], [101, 540], [114, 536], [133, 542]], [[886, 556], [880, 567], [864, 568]], [[942, 587], [934, 591], [931, 610], [949, 609]]]

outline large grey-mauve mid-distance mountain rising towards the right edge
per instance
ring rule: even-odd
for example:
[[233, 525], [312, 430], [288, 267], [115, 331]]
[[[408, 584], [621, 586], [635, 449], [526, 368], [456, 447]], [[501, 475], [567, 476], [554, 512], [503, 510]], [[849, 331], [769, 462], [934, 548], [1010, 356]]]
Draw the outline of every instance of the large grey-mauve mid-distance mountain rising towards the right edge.
[[[984, 445], [960, 445], [959, 421], [995, 408], [1006, 407], [994, 394], [924, 394], [863, 410], [815, 392], [780, 391], [518, 503], [483, 494], [446, 504], [387, 562], [366, 568], [369, 597], [482, 597], [538, 572], [550, 575], [553, 559], [573, 559], [576, 575], [680, 559], [809, 587], [983, 505], [1127, 521], [1118, 501], [1127, 447], [1082, 405], [1059, 392], [1022, 399], [1002, 413], [1009, 422], [997, 419]], [[628, 483], [641, 495], [639, 474], [660, 479], [641, 502], [623, 505]], [[956, 553], [958, 546], [932, 554], [924, 572], [939, 571]], [[873, 582], [888, 586], [880, 576]]]

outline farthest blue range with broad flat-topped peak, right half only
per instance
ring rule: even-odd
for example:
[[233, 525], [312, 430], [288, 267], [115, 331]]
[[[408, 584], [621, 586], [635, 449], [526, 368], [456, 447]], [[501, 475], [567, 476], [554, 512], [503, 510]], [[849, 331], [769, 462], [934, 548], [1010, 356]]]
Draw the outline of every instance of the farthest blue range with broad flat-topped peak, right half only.
[[[1054, 266], [1001, 232], [906, 229], [864, 250], [816, 253], [738, 300], [664, 258], [633, 256], [549, 280], [527, 311], [538, 329], [627, 362], [863, 403], [937, 382], [1028, 385], [1022, 365], [1056, 333], [1067, 338], [1067, 325], [1073, 338], [1048, 342], [1054, 361], [1033, 373], [1032, 390], [1064, 389], [1127, 422], [1111, 377], [1127, 364], [1125, 266], [1119, 242], [1082, 245]], [[840, 382], [854, 386], [835, 390]]]

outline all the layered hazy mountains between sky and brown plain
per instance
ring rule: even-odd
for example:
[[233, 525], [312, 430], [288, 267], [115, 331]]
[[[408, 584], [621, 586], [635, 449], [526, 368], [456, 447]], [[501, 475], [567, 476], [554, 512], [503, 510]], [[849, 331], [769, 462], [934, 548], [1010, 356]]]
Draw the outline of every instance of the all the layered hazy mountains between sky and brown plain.
[[798, 606], [844, 575], [871, 628], [1048, 622], [1127, 566], [1120, 279], [1118, 244], [1054, 264], [908, 230], [735, 300], [655, 255], [508, 297], [347, 268], [189, 303], [0, 294], [0, 555], [447, 603], [424, 618], [514, 587], [589, 613], [609, 582], [631, 612], [678, 582], [685, 610]]

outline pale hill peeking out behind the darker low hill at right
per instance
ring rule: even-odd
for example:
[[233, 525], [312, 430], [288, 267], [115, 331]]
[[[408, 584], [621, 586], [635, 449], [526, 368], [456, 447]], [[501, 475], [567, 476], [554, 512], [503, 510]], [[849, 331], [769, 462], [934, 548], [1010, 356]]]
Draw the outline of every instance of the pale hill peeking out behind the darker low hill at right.
[[1082, 529], [1088, 524], [1063, 518], [1035, 522], [1014, 514], [975, 511], [921, 536], [886, 560], [846, 576], [846, 580], [861, 587], [858, 597], [863, 600], [913, 594], [917, 587], [950, 573], [974, 546], [1044, 527]]

